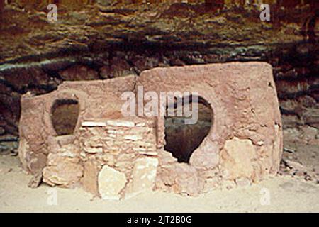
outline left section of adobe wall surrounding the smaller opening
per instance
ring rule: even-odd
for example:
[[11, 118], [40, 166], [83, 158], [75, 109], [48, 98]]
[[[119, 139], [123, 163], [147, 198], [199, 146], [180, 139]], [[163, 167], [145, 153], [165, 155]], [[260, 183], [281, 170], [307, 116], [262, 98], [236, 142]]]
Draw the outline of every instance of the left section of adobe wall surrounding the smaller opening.
[[[40, 96], [25, 94], [21, 97], [19, 122], [19, 156], [23, 167], [35, 174], [46, 165], [46, 157], [57, 146], [57, 133], [52, 126], [51, 111], [57, 99], [79, 102], [79, 118], [74, 134], [84, 120], [118, 118], [121, 116], [121, 94], [133, 91], [135, 77], [122, 77], [86, 82], [63, 82], [56, 91]], [[61, 141], [60, 143], [68, 143]]]

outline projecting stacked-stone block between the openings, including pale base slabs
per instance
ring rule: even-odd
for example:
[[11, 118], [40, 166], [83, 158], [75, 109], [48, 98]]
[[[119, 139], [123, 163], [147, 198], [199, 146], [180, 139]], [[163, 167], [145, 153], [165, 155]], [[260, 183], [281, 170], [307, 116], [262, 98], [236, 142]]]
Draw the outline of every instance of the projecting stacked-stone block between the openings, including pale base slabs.
[[81, 180], [86, 191], [103, 199], [152, 190], [158, 164], [155, 141], [152, 121], [83, 121], [71, 145], [48, 155], [43, 180], [60, 187]]

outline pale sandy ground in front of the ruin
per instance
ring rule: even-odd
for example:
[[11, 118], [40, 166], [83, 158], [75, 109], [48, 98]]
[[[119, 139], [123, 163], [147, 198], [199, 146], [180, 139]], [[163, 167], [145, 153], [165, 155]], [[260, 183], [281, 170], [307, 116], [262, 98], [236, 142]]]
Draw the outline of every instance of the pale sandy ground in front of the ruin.
[[198, 197], [147, 192], [125, 201], [93, 198], [80, 188], [29, 189], [29, 180], [18, 157], [0, 155], [1, 212], [319, 212], [319, 184], [289, 176]]

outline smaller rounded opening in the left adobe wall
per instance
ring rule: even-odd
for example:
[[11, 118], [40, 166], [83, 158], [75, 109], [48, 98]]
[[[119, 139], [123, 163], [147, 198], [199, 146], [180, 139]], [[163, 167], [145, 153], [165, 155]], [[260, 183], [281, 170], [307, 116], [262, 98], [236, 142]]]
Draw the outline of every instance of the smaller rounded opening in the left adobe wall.
[[73, 134], [79, 117], [79, 103], [73, 99], [59, 99], [52, 107], [52, 125], [57, 135]]

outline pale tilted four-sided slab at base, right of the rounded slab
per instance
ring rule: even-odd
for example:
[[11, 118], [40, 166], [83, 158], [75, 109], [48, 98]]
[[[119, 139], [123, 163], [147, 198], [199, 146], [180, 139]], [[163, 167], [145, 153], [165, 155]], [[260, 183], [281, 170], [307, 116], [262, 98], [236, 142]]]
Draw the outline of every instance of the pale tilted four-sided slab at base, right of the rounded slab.
[[135, 160], [130, 182], [125, 189], [125, 198], [153, 189], [157, 165], [158, 160], [155, 157], [139, 157]]

